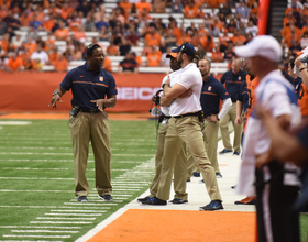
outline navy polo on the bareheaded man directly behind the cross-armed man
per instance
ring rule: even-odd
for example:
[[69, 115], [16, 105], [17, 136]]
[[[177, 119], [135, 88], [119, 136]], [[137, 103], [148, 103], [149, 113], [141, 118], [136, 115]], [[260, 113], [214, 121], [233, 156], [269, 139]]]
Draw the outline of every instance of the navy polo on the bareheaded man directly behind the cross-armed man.
[[220, 100], [230, 98], [223, 85], [210, 75], [204, 80], [200, 102], [205, 117], [219, 113]]

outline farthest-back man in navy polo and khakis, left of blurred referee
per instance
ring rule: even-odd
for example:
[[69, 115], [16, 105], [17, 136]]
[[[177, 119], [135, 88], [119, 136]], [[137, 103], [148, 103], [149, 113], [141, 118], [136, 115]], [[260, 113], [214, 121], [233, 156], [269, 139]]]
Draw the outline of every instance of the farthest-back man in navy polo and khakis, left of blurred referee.
[[240, 155], [241, 152], [241, 136], [242, 136], [242, 125], [235, 125], [237, 119], [237, 99], [241, 84], [245, 80], [245, 72], [242, 69], [242, 61], [235, 58], [232, 62], [232, 69], [224, 73], [220, 79], [220, 82], [226, 84], [226, 89], [230, 95], [232, 106], [229, 112], [220, 120], [220, 132], [224, 148], [219, 152], [219, 154], [226, 154], [232, 152], [232, 145], [230, 143], [229, 136], [229, 122], [232, 121], [234, 128], [234, 141], [233, 151], [234, 155]]

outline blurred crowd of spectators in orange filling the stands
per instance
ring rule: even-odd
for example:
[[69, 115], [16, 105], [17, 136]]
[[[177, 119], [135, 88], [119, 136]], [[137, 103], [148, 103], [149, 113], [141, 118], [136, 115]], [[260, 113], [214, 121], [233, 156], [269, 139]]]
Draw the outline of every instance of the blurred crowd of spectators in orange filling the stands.
[[[289, 52], [308, 45], [307, 3], [294, 0], [294, 6], [286, 10], [282, 30], [282, 45]], [[165, 53], [183, 42], [194, 44], [200, 57], [211, 53], [212, 62], [230, 63], [233, 47], [258, 32], [257, 0], [119, 0], [112, 11], [107, 11], [103, 0], [0, 0], [0, 8], [2, 72], [40, 72], [44, 65], [65, 72], [69, 62], [86, 59], [88, 32], [98, 33], [90, 42], [108, 42], [102, 47], [110, 72], [108, 56], [114, 55], [134, 58], [138, 65], [125, 66], [129, 70], [168, 66]], [[185, 26], [183, 19], [169, 14], [166, 23], [150, 13], [183, 13], [185, 19], [202, 21]], [[25, 28], [26, 35], [19, 34]], [[57, 45], [59, 41], [65, 44]], [[142, 51], [133, 52], [134, 46]]]

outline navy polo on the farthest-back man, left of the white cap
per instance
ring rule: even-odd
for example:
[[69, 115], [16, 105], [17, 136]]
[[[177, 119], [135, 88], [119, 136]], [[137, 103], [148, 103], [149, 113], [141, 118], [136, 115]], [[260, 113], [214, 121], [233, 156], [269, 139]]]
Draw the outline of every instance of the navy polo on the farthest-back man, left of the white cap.
[[246, 80], [246, 73], [240, 70], [238, 75], [232, 70], [228, 70], [220, 78], [220, 82], [226, 82], [226, 89], [229, 92], [232, 102], [237, 102], [241, 84]]

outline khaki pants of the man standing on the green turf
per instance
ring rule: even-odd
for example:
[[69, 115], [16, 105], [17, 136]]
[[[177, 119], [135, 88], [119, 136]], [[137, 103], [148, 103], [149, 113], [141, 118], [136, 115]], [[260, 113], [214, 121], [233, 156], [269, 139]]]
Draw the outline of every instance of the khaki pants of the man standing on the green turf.
[[106, 112], [79, 112], [70, 120], [69, 125], [74, 151], [76, 196], [88, 196], [89, 194], [86, 168], [90, 141], [95, 155], [97, 191], [100, 196], [110, 194], [112, 187], [108, 114]]

